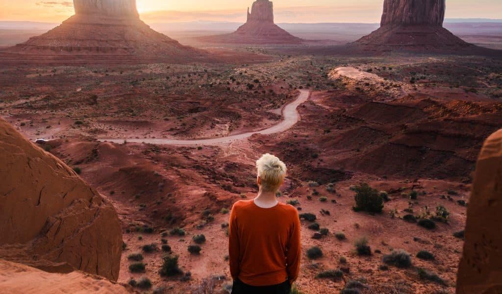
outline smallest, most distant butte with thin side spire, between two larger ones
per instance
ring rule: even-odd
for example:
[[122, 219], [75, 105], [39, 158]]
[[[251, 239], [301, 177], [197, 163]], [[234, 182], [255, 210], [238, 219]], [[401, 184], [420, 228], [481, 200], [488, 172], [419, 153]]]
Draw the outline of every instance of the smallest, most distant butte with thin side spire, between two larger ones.
[[257, 0], [251, 11], [247, 9], [247, 21], [237, 31], [199, 40], [227, 44], [302, 44], [303, 40], [291, 35], [274, 23], [274, 4], [269, 0]]

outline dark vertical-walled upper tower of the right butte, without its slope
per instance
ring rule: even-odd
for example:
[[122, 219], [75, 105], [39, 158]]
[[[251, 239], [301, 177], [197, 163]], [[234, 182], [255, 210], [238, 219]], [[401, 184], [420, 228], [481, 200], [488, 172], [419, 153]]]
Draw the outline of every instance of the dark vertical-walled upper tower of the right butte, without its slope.
[[381, 25], [442, 26], [446, 0], [385, 0]]

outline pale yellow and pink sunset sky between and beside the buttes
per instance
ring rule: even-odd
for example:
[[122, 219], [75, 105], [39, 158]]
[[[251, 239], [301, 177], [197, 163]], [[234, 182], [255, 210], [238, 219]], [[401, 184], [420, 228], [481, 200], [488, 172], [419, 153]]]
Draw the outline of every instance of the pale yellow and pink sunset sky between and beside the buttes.
[[[384, 0], [275, 0], [276, 22], [378, 23]], [[146, 22], [244, 22], [253, 0], [137, 0]], [[502, 19], [502, 0], [447, 0], [447, 18]], [[71, 0], [0, 0], [0, 21], [61, 22]]]

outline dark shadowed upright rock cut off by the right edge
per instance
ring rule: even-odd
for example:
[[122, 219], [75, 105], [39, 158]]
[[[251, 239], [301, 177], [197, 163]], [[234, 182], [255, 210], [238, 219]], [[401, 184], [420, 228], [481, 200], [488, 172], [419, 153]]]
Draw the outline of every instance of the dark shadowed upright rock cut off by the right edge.
[[458, 294], [502, 293], [502, 129], [484, 143], [467, 209]]

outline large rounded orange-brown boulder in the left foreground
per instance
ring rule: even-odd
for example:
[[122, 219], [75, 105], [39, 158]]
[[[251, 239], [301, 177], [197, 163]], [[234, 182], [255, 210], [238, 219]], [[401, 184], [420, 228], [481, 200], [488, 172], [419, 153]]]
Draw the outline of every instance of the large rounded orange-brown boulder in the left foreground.
[[122, 234], [113, 206], [0, 119], [0, 258], [117, 280]]

